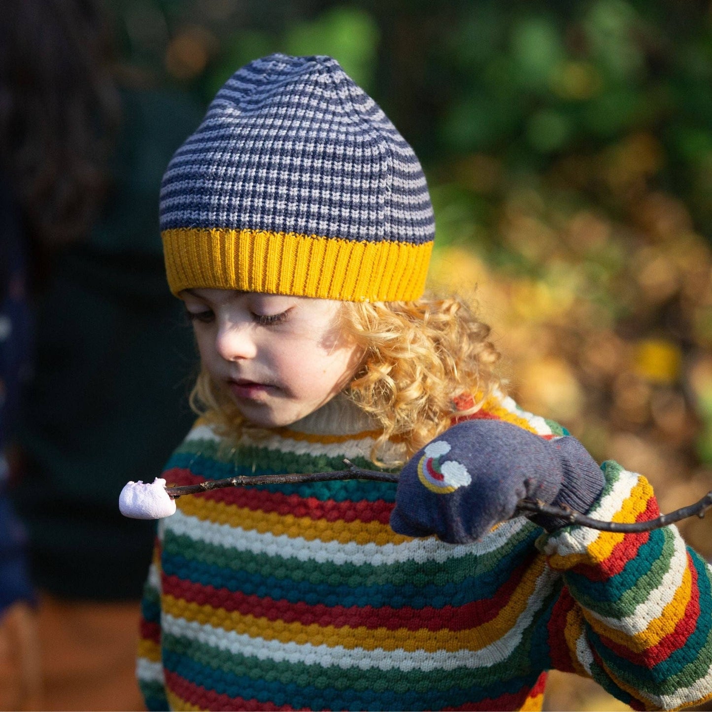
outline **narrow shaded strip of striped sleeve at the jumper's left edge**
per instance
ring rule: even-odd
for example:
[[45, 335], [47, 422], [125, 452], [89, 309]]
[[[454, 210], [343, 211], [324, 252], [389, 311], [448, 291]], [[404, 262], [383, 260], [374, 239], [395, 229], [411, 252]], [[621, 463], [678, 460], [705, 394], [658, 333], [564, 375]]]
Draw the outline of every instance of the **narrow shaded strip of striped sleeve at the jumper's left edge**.
[[136, 677], [147, 709], [167, 710], [169, 704], [161, 662], [161, 549], [163, 523], [158, 523], [158, 535], [153, 560], [148, 571], [141, 602], [140, 642], [136, 662]]

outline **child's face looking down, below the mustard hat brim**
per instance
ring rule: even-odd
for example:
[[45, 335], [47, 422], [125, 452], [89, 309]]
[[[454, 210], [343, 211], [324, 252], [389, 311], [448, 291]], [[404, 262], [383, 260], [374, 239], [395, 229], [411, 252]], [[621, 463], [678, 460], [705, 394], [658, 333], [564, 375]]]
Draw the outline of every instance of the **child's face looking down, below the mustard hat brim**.
[[305, 417], [348, 384], [360, 361], [340, 330], [340, 302], [225, 289], [181, 297], [204, 369], [253, 424]]

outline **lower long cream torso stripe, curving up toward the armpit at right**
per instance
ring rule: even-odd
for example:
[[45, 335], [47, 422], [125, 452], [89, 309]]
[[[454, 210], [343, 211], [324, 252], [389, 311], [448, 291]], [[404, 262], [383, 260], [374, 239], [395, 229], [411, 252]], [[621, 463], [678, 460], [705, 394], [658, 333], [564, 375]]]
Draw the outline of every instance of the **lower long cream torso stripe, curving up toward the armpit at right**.
[[439, 650], [429, 653], [424, 650], [407, 652], [402, 648], [395, 651], [384, 651], [382, 648], [366, 650], [361, 647], [345, 648], [341, 645], [282, 643], [278, 640], [266, 640], [261, 637], [226, 631], [197, 621], [187, 621], [170, 614], [164, 614], [163, 629], [169, 634], [187, 637], [229, 651], [232, 654], [254, 656], [261, 660], [275, 662], [314, 664], [324, 667], [338, 666], [342, 669], [357, 667], [362, 670], [377, 668], [380, 670], [431, 671], [435, 669], [454, 670], [461, 667], [476, 669], [497, 664], [506, 660], [513, 653], [520, 644], [523, 632], [531, 624], [536, 612], [552, 590], [556, 578], [557, 574], [545, 567], [535, 583], [535, 588], [525, 609], [515, 624], [506, 630], [503, 637], [478, 651], [461, 649], [454, 652]]

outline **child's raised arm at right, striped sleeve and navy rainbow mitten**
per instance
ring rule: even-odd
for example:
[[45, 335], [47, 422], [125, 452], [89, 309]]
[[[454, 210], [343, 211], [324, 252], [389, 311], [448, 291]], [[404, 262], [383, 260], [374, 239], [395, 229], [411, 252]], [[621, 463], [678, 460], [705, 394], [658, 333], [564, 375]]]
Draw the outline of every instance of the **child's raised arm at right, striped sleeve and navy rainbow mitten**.
[[[604, 520], [659, 515], [642, 476], [598, 468], [575, 439], [481, 420], [454, 426], [407, 464], [391, 523], [466, 543], [524, 496]], [[552, 665], [592, 676], [636, 708], [712, 697], [712, 572], [676, 528], [624, 535], [538, 523], [552, 532], [538, 546], [565, 582], [548, 622]]]

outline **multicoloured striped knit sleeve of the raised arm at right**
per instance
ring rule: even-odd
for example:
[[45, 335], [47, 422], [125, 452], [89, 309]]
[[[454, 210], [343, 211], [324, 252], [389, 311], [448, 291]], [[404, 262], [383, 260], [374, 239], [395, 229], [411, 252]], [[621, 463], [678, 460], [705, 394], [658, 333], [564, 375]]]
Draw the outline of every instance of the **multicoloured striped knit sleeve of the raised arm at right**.
[[[659, 516], [644, 477], [612, 461], [602, 469], [590, 516]], [[537, 545], [565, 581], [548, 624], [554, 667], [592, 677], [635, 709], [712, 698], [712, 570], [674, 526], [621, 534], [571, 525]]]

